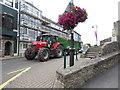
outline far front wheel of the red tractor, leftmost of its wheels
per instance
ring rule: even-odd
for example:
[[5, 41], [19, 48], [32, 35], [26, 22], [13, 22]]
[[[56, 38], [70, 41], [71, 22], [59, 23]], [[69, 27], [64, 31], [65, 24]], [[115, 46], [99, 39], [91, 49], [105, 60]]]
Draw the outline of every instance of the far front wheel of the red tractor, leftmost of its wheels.
[[33, 60], [36, 56], [36, 51], [35, 50], [31, 50], [31, 49], [26, 49], [25, 50], [25, 58], [27, 60]]

